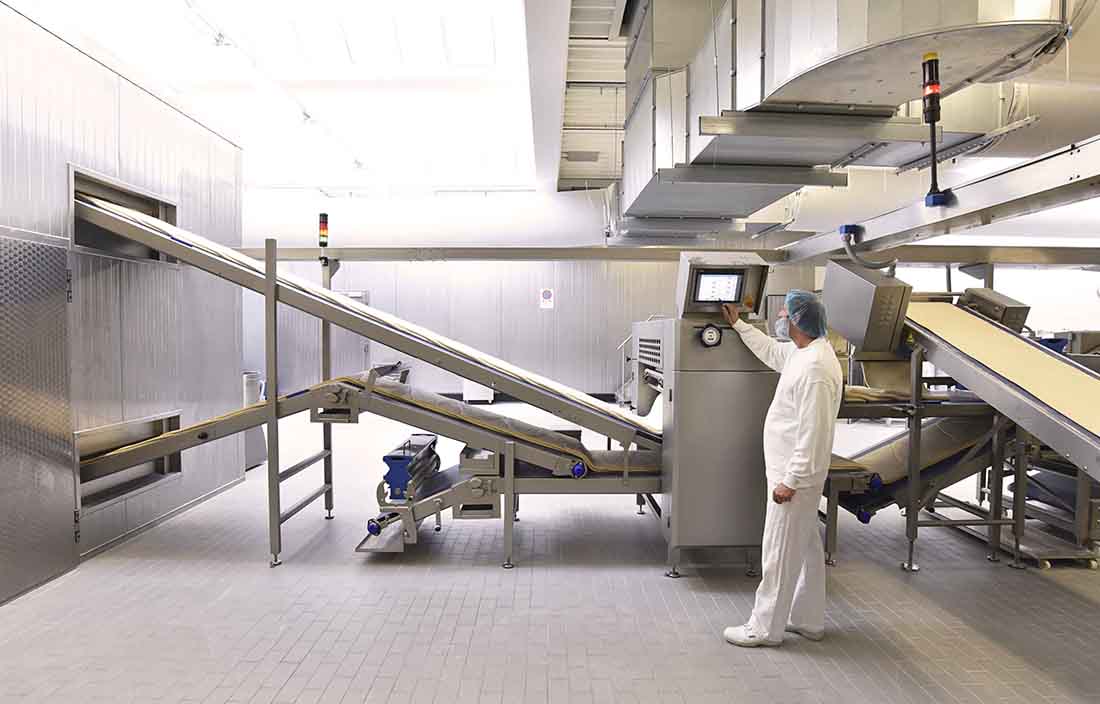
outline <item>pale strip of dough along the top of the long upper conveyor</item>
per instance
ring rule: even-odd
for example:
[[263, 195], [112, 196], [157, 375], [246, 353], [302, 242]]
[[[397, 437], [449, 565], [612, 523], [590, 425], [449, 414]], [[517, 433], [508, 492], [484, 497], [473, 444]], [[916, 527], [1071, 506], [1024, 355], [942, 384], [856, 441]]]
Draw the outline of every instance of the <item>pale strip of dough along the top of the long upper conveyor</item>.
[[[139, 223], [145, 229], [152, 230], [154, 232], [161, 233], [176, 242], [190, 246], [195, 250], [201, 251], [211, 256], [217, 256], [226, 262], [235, 264], [239, 267], [251, 271], [255, 274], [264, 274], [264, 263], [253, 260], [251, 257], [244, 256], [243, 254], [231, 250], [230, 248], [212, 242], [206, 238], [194, 234], [186, 230], [176, 228], [167, 222], [157, 220], [150, 216], [146, 216], [136, 210], [125, 208], [123, 206], [118, 206], [94, 196], [87, 194], [79, 194], [79, 198], [97, 208], [106, 210], [116, 217], [124, 218], [133, 222]], [[296, 288], [302, 293], [306, 293], [315, 298], [322, 299], [334, 306], [343, 308], [345, 311], [351, 312], [358, 317], [365, 318], [376, 324], [382, 324], [391, 328], [395, 331], [402, 332], [420, 341], [443, 348], [454, 354], [468, 359], [471, 362], [475, 362], [483, 366], [494, 370], [495, 372], [503, 374], [505, 376], [510, 376], [515, 380], [526, 382], [532, 386], [539, 387], [546, 392], [564, 397], [576, 404], [585, 406], [598, 414], [604, 416], [609, 416], [617, 418], [628, 425], [631, 425], [639, 430], [648, 432], [651, 436], [660, 438], [661, 427], [654, 426], [647, 421], [645, 418], [631, 414], [629, 410], [615, 406], [614, 404], [608, 404], [602, 402], [584, 392], [578, 391], [564, 384], [560, 384], [553, 380], [547, 378], [528, 370], [524, 370], [514, 364], [509, 364], [504, 360], [495, 358], [480, 350], [475, 350], [466, 344], [463, 344], [457, 340], [443, 337], [427, 328], [417, 326], [407, 320], [403, 320], [396, 316], [383, 312], [376, 308], [365, 306], [358, 300], [353, 300], [346, 296], [338, 293], [333, 293], [322, 286], [318, 286], [311, 282], [292, 276], [289, 274], [278, 275], [279, 284], [288, 287]]]

